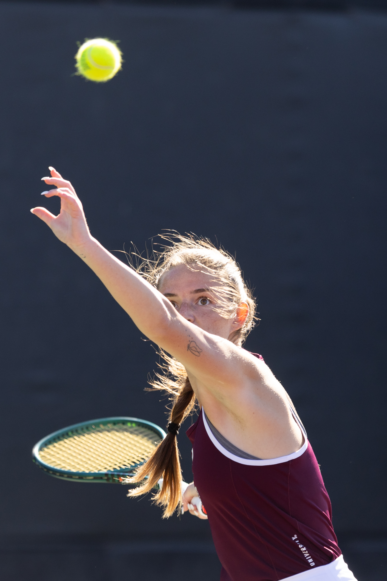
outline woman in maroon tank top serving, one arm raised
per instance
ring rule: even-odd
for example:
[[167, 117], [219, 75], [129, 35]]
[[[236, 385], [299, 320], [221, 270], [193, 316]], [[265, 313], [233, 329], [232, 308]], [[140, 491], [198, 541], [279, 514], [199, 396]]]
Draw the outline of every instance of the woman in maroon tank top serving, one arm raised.
[[[42, 180], [56, 189], [42, 195], [59, 196], [60, 214], [31, 212], [94, 270], [174, 376], [155, 384], [173, 394], [169, 433], [132, 478], [140, 486], [130, 494], [163, 477], [155, 498], [167, 517], [181, 505], [198, 514], [191, 501], [199, 494], [222, 581], [353, 581], [302, 423], [263, 359], [242, 349], [255, 304], [235, 261], [206, 241], [180, 238], [139, 274], [92, 238], [73, 186], [50, 170]], [[196, 400], [199, 418], [187, 432], [194, 483], [181, 497], [176, 435]]]

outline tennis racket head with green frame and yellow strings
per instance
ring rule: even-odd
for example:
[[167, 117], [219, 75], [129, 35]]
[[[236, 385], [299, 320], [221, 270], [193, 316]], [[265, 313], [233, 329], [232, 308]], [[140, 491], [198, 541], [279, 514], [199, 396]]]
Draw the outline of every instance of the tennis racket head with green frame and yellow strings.
[[33, 461], [55, 478], [122, 484], [165, 436], [144, 419], [93, 419], [44, 437], [33, 448]]

